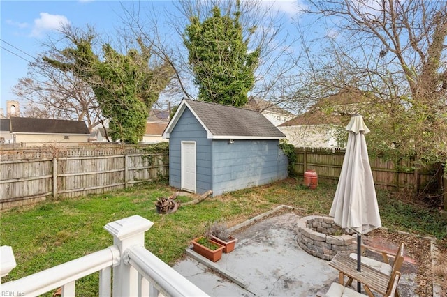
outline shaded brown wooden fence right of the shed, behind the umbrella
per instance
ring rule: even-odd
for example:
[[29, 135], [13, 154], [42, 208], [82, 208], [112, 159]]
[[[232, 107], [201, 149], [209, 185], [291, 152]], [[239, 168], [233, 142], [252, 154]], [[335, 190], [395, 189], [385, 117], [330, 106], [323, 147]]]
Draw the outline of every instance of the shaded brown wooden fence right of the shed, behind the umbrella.
[[[302, 176], [306, 170], [313, 169], [318, 180], [337, 183], [342, 171], [344, 148], [296, 148], [295, 171]], [[369, 158], [374, 183], [379, 188], [391, 191], [411, 190], [420, 192], [426, 186], [442, 184], [442, 172], [432, 165], [415, 169], [412, 160], [381, 160]]]

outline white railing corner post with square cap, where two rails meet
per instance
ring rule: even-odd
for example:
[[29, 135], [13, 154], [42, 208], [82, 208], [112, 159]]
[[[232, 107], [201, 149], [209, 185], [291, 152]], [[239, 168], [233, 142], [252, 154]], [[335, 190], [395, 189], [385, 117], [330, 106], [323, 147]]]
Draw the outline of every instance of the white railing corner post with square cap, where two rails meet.
[[120, 253], [119, 264], [113, 268], [112, 296], [137, 296], [138, 272], [128, 264], [127, 250], [135, 245], [145, 246], [145, 231], [154, 223], [133, 215], [129, 218], [110, 222], [104, 226], [113, 236], [113, 244]]

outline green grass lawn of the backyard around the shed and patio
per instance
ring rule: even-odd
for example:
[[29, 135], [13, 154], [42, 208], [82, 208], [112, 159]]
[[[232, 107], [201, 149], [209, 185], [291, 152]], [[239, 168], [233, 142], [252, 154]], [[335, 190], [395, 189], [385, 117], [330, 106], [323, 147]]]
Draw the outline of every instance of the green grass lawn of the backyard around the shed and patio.
[[[145, 234], [146, 248], [172, 265], [184, 256], [189, 241], [202, 235], [207, 222], [213, 220], [223, 218], [230, 227], [281, 204], [301, 208], [303, 215], [328, 214], [336, 185], [320, 184], [316, 190], [309, 190], [301, 183], [289, 178], [230, 192], [182, 206], [169, 215], [159, 215], [154, 207], [156, 198], [176, 191], [162, 183], [2, 211], [0, 244], [12, 246], [17, 261], [17, 267], [2, 282], [107, 248], [112, 245], [112, 236], [104, 225], [131, 215], [154, 222]], [[383, 227], [446, 240], [447, 220], [437, 211], [406, 204], [384, 191], [378, 190], [377, 196]], [[190, 199], [179, 197], [179, 201]], [[95, 274], [78, 281], [78, 295], [97, 296], [97, 279]]]

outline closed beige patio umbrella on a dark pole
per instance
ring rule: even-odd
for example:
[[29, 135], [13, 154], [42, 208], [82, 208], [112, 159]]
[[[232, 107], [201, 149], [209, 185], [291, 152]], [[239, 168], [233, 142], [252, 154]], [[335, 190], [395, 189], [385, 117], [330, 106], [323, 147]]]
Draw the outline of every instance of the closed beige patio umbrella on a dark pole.
[[[361, 269], [362, 234], [381, 227], [376, 190], [369, 165], [365, 134], [369, 129], [360, 115], [346, 126], [348, 144], [329, 215], [335, 224], [357, 234], [357, 270]], [[358, 283], [360, 292], [360, 283]]]

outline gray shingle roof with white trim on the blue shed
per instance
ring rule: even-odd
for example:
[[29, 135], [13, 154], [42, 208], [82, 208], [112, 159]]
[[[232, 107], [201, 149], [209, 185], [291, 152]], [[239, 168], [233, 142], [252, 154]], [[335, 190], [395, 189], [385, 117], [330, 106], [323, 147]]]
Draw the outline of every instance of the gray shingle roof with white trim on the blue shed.
[[163, 137], [169, 138], [169, 133], [186, 108], [191, 110], [203, 128], [207, 130], [207, 138], [210, 139], [280, 139], [285, 137], [261, 112], [187, 99], [180, 103]]

